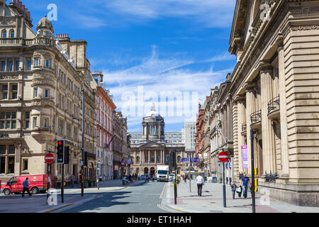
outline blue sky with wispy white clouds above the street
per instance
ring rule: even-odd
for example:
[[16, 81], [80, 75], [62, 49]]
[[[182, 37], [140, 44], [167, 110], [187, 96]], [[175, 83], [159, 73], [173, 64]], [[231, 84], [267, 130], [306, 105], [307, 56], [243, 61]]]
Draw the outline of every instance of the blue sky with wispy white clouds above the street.
[[34, 30], [47, 15], [55, 34], [87, 41], [91, 70], [103, 72], [131, 133], [142, 131], [153, 102], [165, 131], [181, 131], [236, 64], [228, 52], [235, 0], [22, 2]]

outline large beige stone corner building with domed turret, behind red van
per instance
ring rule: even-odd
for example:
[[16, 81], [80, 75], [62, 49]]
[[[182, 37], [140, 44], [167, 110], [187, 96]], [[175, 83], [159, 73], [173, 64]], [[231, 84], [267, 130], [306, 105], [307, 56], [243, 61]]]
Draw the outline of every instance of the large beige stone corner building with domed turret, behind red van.
[[[0, 179], [13, 175], [47, 174], [45, 150], [56, 141], [69, 145], [65, 181], [78, 180], [82, 147], [82, 92], [86, 94], [86, 178], [94, 178], [95, 95], [87, 78], [86, 42], [53, 38], [45, 17], [32, 30], [30, 13], [20, 1], [0, 2]], [[62, 36], [62, 35], [57, 35]], [[71, 56], [71, 57], [69, 57]], [[62, 165], [51, 166], [53, 186], [61, 181]]]

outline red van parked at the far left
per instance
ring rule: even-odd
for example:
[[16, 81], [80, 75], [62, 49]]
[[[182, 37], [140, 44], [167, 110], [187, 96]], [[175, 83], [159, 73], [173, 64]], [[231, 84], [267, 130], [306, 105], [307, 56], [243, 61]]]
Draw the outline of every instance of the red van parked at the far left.
[[23, 175], [11, 177], [6, 184], [1, 185], [1, 193], [9, 196], [11, 193], [18, 194], [23, 192], [23, 182], [27, 177], [29, 178], [29, 190], [32, 194], [38, 194], [38, 192], [45, 193], [47, 190], [47, 175]]

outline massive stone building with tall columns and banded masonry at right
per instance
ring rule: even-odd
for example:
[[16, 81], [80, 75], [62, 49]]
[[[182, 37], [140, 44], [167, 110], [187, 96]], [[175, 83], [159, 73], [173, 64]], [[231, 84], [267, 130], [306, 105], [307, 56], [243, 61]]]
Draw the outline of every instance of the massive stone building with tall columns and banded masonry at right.
[[247, 145], [250, 160], [253, 146], [259, 188], [300, 206], [319, 206], [318, 39], [318, 1], [236, 1], [229, 48], [237, 57], [235, 177], [250, 174], [242, 153]]

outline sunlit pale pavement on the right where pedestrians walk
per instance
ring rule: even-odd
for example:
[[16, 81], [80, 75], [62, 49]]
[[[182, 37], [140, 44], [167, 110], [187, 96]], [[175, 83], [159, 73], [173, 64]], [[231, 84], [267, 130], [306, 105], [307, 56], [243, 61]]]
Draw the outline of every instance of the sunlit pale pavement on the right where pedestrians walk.
[[[190, 192], [191, 190], [191, 192]], [[226, 207], [223, 207], [223, 185], [205, 182], [202, 196], [197, 194], [195, 180], [180, 182], [177, 187], [177, 204], [174, 204], [174, 188], [168, 182], [164, 189], [162, 207], [184, 213], [252, 213], [252, 199], [248, 192], [247, 199], [239, 199], [236, 193], [233, 199], [230, 185], [226, 185]], [[269, 199], [267, 202], [267, 199]], [[265, 203], [267, 202], [267, 203]], [[256, 196], [256, 213], [318, 213], [319, 207], [294, 206], [283, 201], [270, 199], [261, 194]]]

